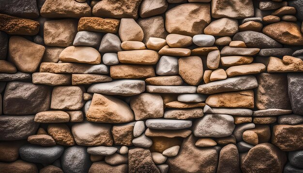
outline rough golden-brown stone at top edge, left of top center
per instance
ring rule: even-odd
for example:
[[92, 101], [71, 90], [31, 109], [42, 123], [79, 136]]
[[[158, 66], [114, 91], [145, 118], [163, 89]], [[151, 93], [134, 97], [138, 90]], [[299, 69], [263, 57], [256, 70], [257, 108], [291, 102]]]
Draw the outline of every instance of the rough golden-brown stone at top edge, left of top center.
[[102, 0], [92, 8], [92, 14], [108, 18], [138, 17], [138, 9], [142, 0]]

